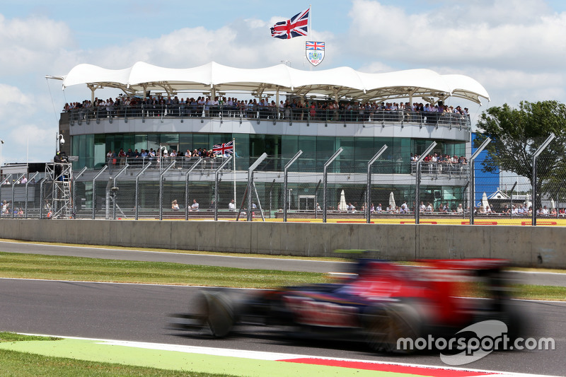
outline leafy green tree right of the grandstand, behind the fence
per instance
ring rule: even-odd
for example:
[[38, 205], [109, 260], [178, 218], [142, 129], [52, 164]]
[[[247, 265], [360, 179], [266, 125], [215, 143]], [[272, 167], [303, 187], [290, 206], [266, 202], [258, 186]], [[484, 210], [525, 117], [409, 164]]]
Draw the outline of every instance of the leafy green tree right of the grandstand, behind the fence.
[[[485, 110], [478, 120], [476, 146], [490, 137], [483, 171], [496, 168], [511, 171], [529, 178], [533, 183], [533, 154], [554, 133], [556, 138], [538, 156], [537, 192], [556, 192], [566, 178], [566, 106], [558, 101], [546, 100], [529, 103], [521, 101], [519, 108], [504, 104]], [[557, 180], [558, 178], [558, 180]], [[546, 191], [545, 191], [546, 190]], [[533, 198], [540, 207], [540, 199]], [[533, 211], [536, 210], [533, 207]]]

